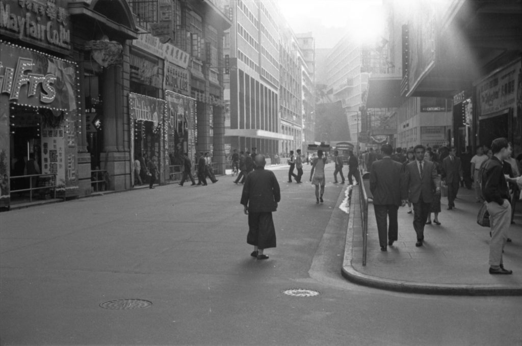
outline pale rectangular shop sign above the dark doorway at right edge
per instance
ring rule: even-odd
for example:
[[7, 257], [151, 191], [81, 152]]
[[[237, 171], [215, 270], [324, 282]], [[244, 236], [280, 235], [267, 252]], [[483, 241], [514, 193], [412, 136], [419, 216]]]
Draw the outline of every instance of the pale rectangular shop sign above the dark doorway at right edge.
[[518, 62], [479, 83], [477, 86], [479, 116], [515, 106], [517, 94], [515, 80], [519, 70]]

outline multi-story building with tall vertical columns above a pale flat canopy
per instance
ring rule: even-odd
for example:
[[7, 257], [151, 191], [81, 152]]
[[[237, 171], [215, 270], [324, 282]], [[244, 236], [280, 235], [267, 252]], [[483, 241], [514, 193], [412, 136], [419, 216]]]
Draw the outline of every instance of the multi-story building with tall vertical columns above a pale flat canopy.
[[232, 1], [233, 25], [225, 39], [230, 75], [225, 91], [225, 141], [229, 149], [275, 154], [281, 140], [280, 13], [274, 1]]

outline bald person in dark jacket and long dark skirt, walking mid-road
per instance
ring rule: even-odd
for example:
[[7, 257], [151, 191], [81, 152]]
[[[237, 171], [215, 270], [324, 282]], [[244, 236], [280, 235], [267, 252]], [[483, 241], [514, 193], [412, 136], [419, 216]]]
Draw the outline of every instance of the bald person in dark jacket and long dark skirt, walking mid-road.
[[272, 171], [265, 170], [265, 157], [255, 157], [256, 169], [246, 177], [241, 194], [244, 213], [248, 215], [248, 235], [246, 243], [254, 246], [250, 254], [257, 259], [268, 259], [263, 252], [276, 247], [276, 228], [272, 212], [277, 210], [281, 200], [279, 183]]

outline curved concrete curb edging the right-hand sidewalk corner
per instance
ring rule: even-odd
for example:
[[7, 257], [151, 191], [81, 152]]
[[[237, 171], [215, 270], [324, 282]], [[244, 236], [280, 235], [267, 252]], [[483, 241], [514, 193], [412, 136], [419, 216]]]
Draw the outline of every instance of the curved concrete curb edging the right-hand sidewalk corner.
[[[355, 200], [356, 203], [352, 203]], [[350, 198], [348, 230], [346, 234], [345, 257], [342, 264], [342, 276], [347, 280], [382, 290], [406, 292], [406, 293], [422, 293], [422, 294], [441, 294], [441, 295], [522, 295], [522, 287], [508, 285], [492, 285], [492, 284], [438, 284], [438, 283], [422, 283], [412, 281], [401, 281], [380, 278], [366, 275], [356, 270], [352, 266], [352, 243], [354, 232], [354, 219], [360, 219], [359, 206], [359, 188], [352, 188], [352, 196]]]

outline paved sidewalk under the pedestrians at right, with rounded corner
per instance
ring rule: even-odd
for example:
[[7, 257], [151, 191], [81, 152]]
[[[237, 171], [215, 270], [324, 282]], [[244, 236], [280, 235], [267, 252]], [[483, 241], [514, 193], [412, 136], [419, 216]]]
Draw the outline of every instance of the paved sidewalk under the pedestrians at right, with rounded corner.
[[[367, 184], [366, 184], [367, 185]], [[489, 228], [477, 224], [480, 204], [473, 190], [460, 188], [456, 208], [446, 210], [442, 198], [440, 226], [426, 225], [424, 245], [416, 247], [413, 214], [399, 208], [399, 237], [387, 252], [379, 246], [373, 204], [368, 207], [367, 257], [362, 266], [359, 186], [353, 186], [342, 275], [379, 289], [428, 294], [522, 295], [522, 202], [509, 228], [504, 265], [513, 275], [490, 275]]]

